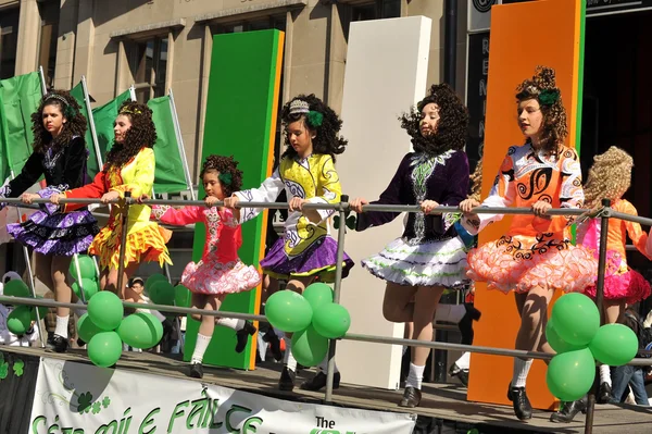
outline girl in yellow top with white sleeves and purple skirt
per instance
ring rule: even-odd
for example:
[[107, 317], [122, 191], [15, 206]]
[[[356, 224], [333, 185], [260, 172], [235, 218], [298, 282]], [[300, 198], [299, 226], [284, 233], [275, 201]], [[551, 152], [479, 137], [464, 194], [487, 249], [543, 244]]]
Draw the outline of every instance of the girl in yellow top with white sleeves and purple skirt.
[[[261, 266], [265, 274], [287, 280], [288, 289], [301, 293], [316, 277], [327, 283], [335, 280], [337, 241], [329, 235], [327, 224], [334, 211], [304, 210], [303, 204], [340, 201], [335, 156], [344, 151], [347, 140], [338, 134], [342, 121], [314, 95], [292, 99], [280, 115], [288, 148], [278, 169], [259, 188], [237, 191], [226, 198], [224, 204], [235, 208], [240, 201], [274, 202], [286, 190], [290, 214], [285, 222], [284, 237], [274, 244]], [[240, 221], [251, 220], [260, 212], [260, 209], [242, 208]], [[344, 255], [342, 277], [351, 266], [353, 261]], [[281, 390], [294, 387], [297, 360], [291, 354], [290, 338], [289, 334], [284, 337], [285, 368], [278, 382]]]

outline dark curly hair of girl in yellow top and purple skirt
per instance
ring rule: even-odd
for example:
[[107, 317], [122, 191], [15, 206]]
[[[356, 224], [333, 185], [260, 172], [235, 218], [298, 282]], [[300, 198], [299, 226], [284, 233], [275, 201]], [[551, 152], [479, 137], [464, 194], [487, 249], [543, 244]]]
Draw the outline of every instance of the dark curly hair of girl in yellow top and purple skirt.
[[[310, 108], [308, 115], [302, 113], [290, 114], [290, 104], [296, 100], [308, 102]], [[297, 151], [290, 146], [287, 127], [292, 122], [300, 120], [303, 120], [305, 126], [316, 133], [315, 138], [312, 140], [313, 153], [328, 154], [335, 161], [335, 156], [344, 151], [348, 140], [338, 134], [342, 127], [342, 121], [333, 109], [313, 94], [299, 95], [285, 104], [280, 111], [280, 120], [286, 128], [285, 145], [288, 147], [281, 158], [297, 157]]]

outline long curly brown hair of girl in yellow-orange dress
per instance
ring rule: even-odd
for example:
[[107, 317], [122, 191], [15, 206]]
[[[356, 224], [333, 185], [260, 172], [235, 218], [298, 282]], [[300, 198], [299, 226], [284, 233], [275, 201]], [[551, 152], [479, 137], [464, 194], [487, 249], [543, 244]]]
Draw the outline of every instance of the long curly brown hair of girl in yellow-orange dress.
[[153, 148], [156, 141], [156, 127], [149, 107], [140, 102], [125, 101], [120, 107], [117, 114], [129, 117], [131, 127], [125, 134], [125, 140], [122, 144], [113, 140], [113, 146], [106, 153], [104, 172], [108, 172], [111, 166], [122, 168], [142, 148]]

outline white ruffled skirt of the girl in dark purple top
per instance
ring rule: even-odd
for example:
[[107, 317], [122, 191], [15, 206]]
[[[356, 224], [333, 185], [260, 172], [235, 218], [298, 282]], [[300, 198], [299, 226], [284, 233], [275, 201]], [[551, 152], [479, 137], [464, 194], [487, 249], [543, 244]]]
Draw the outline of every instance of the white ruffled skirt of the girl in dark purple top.
[[415, 245], [397, 238], [362, 265], [376, 277], [399, 285], [459, 289], [469, 283], [466, 248], [460, 237]]

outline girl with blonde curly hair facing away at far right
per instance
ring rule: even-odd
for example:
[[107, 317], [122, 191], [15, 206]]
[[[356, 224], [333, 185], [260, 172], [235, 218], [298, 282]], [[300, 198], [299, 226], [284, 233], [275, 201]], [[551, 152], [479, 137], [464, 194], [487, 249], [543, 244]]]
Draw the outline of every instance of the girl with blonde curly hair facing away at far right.
[[[602, 199], [607, 198], [611, 199], [611, 207], [615, 211], [638, 215], [636, 208], [623, 199], [631, 185], [632, 166], [631, 156], [615, 146], [609, 148], [606, 152], [595, 156], [593, 165], [589, 170], [589, 178], [585, 184], [586, 208], [599, 208]], [[603, 300], [604, 319], [607, 324], [623, 322], [626, 305], [634, 305], [650, 296], [650, 283], [627, 265], [625, 255], [627, 235], [641, 253], [648, 259], [652, 259], [645, 251], [648, 234], [641, 230], [640, 224], [618, 219], [612, 219], [609, 222]], [[595, 258], [598, 258], [600, 219], [590, 219], [578, 225], [577, 243], [593, 249]], [[589, 286], [585, 294], [595, 297], [595, 286]], [[610, 367], [602, 364], [598, 401], [610, 402], [611, 392]]]

